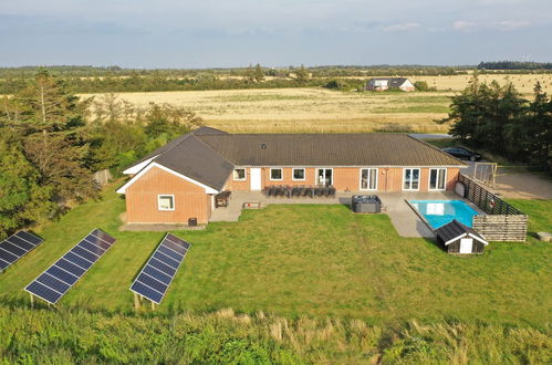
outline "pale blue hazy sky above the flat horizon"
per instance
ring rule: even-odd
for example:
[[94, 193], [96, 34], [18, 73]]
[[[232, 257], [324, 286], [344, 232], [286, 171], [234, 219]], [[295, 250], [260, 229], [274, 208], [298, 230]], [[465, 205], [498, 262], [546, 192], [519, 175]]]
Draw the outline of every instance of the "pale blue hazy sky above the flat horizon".
[[0, 0], [0, 66], [552, 61], [552, 0]]

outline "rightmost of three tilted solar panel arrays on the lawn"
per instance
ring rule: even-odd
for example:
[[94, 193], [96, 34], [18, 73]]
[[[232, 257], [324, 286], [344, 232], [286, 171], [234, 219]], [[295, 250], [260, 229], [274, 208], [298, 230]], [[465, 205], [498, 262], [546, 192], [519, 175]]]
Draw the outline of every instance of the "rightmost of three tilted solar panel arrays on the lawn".
[[159, 304], [191, 244], [167, 233], [131, 286], [131, 291]]

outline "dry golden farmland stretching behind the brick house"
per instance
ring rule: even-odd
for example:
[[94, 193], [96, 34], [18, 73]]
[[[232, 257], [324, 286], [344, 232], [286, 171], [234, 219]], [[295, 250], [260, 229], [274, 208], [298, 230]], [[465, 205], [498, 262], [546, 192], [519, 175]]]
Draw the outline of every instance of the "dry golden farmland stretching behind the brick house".
[[[540, 80], [552, 90], [552, 75], [492, 75], [508, 77], [523, 93]], [[184, 106], [199, 114], [209, 126], [231, 133], [446, 133], [448, 126], [434, 121], [445, 117], [450, 96], [466, 87], [469, 75], [417, 76], [447, 92], [373, 93], [325, 88], [253, 88], [190, 92], [119, 93], [137, 107], [150, 102]], [[490, 81], [490, 75], [481, 75]], [[528, 96], [529, 96], [528, 94]], [[93, 96], [97, 94], [83, 94]]]

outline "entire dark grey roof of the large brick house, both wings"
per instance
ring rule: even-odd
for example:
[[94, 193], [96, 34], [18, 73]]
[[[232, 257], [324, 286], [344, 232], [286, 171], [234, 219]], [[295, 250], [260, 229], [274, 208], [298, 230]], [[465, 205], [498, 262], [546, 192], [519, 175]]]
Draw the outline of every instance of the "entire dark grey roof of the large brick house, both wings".
[[169, 142], [134, 165], [149, 158], [217, 190], [235, 166], [464, 165], [406, 134], [228, 134], [208, 127]]

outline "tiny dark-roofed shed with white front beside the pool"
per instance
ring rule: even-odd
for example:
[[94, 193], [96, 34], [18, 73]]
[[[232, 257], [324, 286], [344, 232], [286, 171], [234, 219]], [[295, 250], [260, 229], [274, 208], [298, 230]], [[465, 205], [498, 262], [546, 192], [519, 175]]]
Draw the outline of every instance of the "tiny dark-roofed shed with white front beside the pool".
[[483, 253], [485, 247], [489, 244], [482, 234], [456, 219], [437, 228], [435, 234], [448, 253]]

